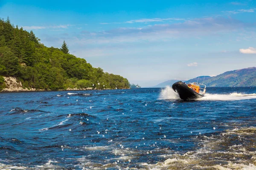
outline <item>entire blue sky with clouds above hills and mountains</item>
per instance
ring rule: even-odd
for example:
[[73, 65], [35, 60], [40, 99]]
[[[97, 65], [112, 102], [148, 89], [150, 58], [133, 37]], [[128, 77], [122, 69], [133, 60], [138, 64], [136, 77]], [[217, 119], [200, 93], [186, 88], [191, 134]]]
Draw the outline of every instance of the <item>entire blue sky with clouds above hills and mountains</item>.
[[255, 0], [0, 0], [0, 17], [143, 87], [256, 66]]

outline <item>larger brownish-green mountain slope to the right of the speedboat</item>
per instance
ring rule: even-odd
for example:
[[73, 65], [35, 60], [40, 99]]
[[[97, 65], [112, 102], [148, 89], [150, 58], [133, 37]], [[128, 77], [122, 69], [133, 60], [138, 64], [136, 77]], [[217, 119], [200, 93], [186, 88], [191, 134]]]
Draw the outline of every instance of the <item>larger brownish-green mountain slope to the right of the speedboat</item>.
[[255, 87], [256, 67], [227, 71], [204, 81], [207, 87]]

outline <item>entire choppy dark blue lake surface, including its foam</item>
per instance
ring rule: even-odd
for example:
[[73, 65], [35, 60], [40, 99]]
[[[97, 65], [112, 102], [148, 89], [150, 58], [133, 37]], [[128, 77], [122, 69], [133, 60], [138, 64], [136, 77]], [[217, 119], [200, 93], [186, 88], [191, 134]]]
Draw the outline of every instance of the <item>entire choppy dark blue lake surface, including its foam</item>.
[[0, 169], [256, 169], [256, 88], [0, 94]]

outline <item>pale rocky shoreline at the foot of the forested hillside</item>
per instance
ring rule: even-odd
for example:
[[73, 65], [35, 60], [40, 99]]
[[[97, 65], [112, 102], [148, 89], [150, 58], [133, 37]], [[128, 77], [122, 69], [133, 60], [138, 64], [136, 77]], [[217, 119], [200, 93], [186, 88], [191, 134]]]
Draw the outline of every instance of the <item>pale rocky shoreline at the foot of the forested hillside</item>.
[[[15, 77], [4, 77], [6, 88], [3, 88], [0, 92], [29, 92], [29, 91], [51, 91], [35, 88], [23, 88], [22, 83]], [[97, 89], [97, 88], [67, 88], [60, 89], [58, 91], [82, 91], [82, 90], [111, 90], [111, 89]]]

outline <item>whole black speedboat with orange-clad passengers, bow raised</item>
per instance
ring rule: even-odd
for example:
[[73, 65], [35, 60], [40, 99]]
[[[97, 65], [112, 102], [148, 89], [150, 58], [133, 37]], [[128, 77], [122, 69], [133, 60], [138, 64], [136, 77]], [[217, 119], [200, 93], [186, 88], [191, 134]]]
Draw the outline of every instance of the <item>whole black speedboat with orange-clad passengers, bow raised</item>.
[[206, 85], [197, 82], [186, 84], [179, 81], [172, 85], [172, 89], [180, 96], [180, 99], [191, 100], [204, 97]]

